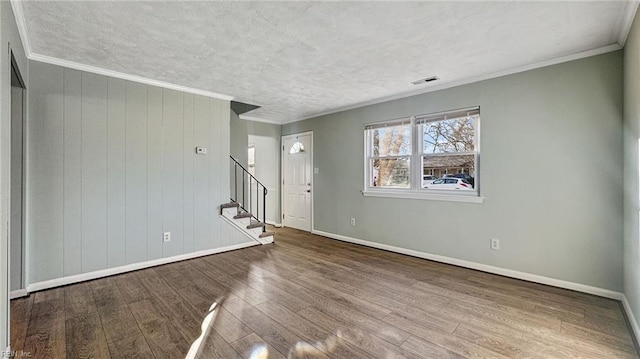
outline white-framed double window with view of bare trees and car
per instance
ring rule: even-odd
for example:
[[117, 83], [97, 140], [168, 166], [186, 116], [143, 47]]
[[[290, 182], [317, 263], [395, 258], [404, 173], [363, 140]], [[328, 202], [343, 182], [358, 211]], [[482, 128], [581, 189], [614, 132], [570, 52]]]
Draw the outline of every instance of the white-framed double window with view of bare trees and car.
[[366, 125], [364, 194], [478, 198], [479, 125], [479, 107]]

